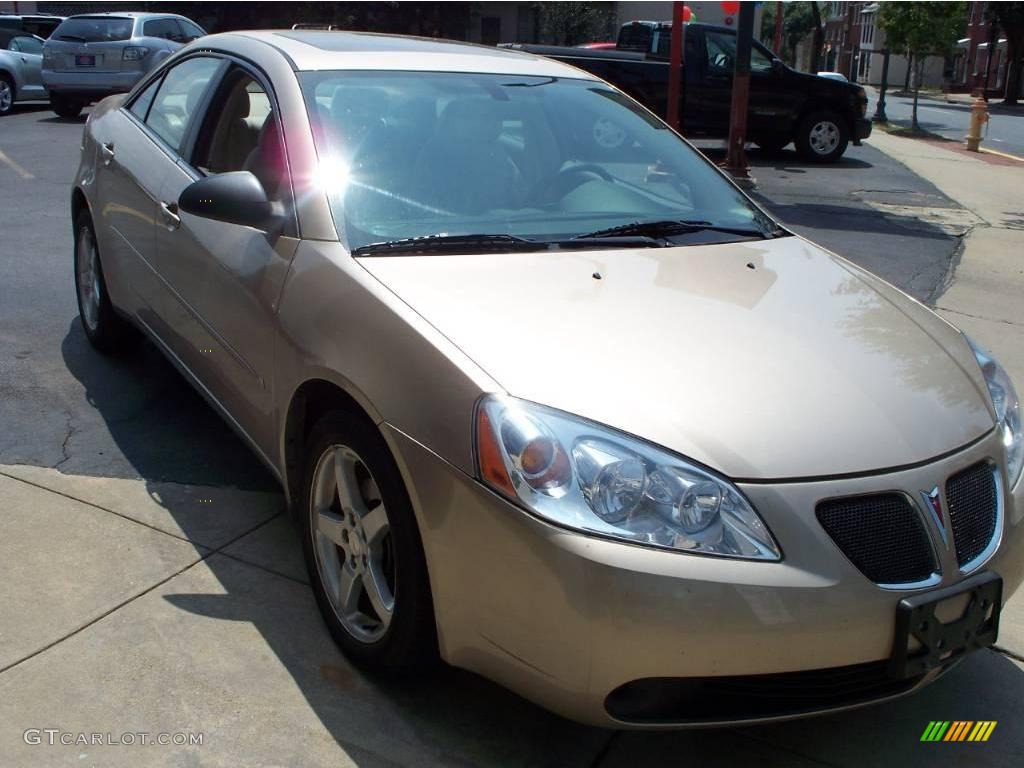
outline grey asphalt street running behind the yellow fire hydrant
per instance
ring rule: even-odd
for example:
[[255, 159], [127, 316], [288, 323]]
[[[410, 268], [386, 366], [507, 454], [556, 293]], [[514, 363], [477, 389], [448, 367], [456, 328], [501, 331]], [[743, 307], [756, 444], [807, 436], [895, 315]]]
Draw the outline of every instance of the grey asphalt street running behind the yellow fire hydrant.
[[[868, 90], [867, 114], [873, 115], [878, 89]], [[886, 117], [890, 123], [909, 128], [913, 112], [912, 96], [886, 94]], [[993, 99], [988, 103], [988, 125], [982, 128], [982, 145], [1024, 158], [1024, 105], [1004, 106]], [[918, 124], [927, 131], [963, 141], [971, 122], [971, 106], [949, 103], [941, 97], [918, 99]]]

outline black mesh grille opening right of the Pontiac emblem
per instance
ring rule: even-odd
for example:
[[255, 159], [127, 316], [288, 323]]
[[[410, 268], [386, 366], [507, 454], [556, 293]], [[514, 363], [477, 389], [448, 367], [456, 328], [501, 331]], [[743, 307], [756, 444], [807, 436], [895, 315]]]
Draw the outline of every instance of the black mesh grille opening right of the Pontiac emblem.
[[995, 475], [987, 462], [957, 472], [946, 481], [946, 506], [963, 567], [985, 551], [995, 536], [998, 495]]

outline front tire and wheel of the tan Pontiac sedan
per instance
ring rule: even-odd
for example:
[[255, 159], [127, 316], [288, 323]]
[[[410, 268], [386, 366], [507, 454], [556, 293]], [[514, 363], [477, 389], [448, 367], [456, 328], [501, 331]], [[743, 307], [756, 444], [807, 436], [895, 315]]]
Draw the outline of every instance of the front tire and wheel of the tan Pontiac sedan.
[[[309, 583], [345, 655], [381, 672], [433, 667], [437, 629], [419, 527], [398, 468], [369, 420], [335, 411], [316, 423], [300, 504]], [[388, 598], [389, 614], [379, 607]]]

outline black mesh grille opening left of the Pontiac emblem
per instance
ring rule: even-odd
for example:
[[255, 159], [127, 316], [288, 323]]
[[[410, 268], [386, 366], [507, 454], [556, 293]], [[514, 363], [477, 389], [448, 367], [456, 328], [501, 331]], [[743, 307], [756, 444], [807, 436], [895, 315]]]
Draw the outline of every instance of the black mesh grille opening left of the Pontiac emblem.
[[912, 584], [937, 570], [918, 510], [902, 494], [829, 499], [818, 522], [860, 572], [877, 584]]

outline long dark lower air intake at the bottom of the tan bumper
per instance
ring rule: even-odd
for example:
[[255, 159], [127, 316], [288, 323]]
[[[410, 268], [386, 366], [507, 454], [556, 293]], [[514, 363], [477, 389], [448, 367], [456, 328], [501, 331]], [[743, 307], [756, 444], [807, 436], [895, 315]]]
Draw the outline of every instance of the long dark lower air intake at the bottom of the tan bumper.
[[773, 675], [644, 678], [615, 688], [604, 707], [629, 723], [749, 720], [886, 698], [920, 680], [891, 678], [888, 660]]

